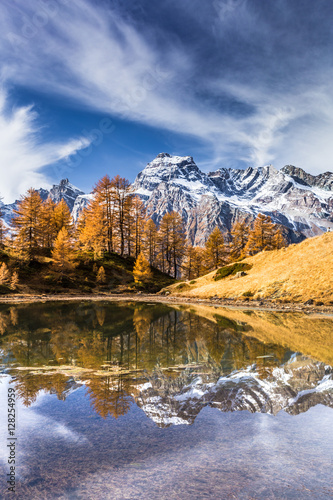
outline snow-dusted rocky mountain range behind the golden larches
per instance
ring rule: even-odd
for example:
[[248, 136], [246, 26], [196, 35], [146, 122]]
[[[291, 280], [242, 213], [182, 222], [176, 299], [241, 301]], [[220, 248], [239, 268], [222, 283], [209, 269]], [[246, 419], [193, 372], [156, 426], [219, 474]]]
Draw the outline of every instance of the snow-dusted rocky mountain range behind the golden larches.
[[[228, 232], [234, 222], [251, 223], [259, 212], [285, 226], [291, 242], [333, 230], [330, 172], [313, 176], [292, 165], [281, 170], [269, 165], [205, 173], [191, 156], [160, 153], [138, 174], [132, 192], [141, 197], [148, 215], [157, 223], [166, 212], [181, 214], [187, 236], [196, 245], [204, 244], [216, 225]], [[44, 200], [64, 199], [75, 221], [92, 197], [68, 179], [39, 193]], [[2, 206], [8, 224], [15, 206]]]

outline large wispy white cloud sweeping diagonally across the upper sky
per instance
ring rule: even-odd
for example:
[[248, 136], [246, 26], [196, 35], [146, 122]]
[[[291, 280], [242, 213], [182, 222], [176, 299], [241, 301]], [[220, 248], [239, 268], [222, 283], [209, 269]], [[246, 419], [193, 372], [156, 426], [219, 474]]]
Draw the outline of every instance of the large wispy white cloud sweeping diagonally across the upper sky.
[[[283, 33], [272, 32], [259, 14], [250, 9], [249, 2], [215, 2], [218, 15], [215, 12], [211, 30], [219, 33], [223, 43], [228, 43], [232, 30], [239, 37], [249, 36], [259, 42], [264, 34], [263, 44], [267, 46], [263, 54], [270, 61], [268, 67], [248, 65], [248, 78], [246, 70], [236, 77], [230, 71], [223, 72], [221, 67], [218, 78], [215, 72], [214, 76], [203, 75], [201, 80], [195, 51], [186, 51], [177, 39], [170, 39], [167, 46], [159, 48], [153, 30], [139, 29], [133, 19], [125, 19], [119, 11], [106, 10], [102, 3], [59, 0], [54, 4], [56, 12], [45, 14], [44, 25], [36, 27], [36, 19], [43, 19], [42, 3], [36, 10], [35, 4], [23, 0], [17, 0], [16, 7], [9, 0], [4, 1], [0, 56], [5, 82], [47, 89], [49, 93], [75, 100], [82, 107], [192, 135], [210, 151], [207, 168], [223, 166], [223, 162], [230, 164], [234, 158], [254, 166], [274, 163], [281, 167], [294, 163], [312, 173], [332, 169], [333, 100], [329, 86], [323, 84], [332, 80], [331, 70], [323, 62], [323, 67], [318, 67], [313, 75], [310, 63], [315, 50], [302, 54], [301, 63], [297, 50], [287, 62], [274, 60], [270, 51], [274, 55]], [[192, 12], [192, 17], [195, 15]], [[207, 18], [204, 22], [207, 23]], [[30, 35], [26, 36], [27, 33]], [[241, 58], [241, 54], [235, 53], [236, 56]], [[305, 64], [307, 58], [309, 64]], [[288, 73], [293, 62], [297, 69], [304, 66], [294, 80]], [[282, 79], [279, 75], [272, 79], [283, 63], [286, 68]], [[232, 96], [250, 106], [252, 113], [234, 116], [222, 108], [214, 108], [214, 101], [208, 104], [196, 92], [200, 85], [213, 97], [220, 92]], [[29, 117], [30, 123], [33, 121], [33, 109], [25, 108], [21, 113], [26, 122]], [[30, 134], [26, 138], [30, 140]], [[76, 146], [80, 148], [80, 144], [69, 143], [67, 149], [64, 146], [65, 149], [56, 151], [60, 155], [69, 154], [71, 147]], [[28, 141], [25, 148], [30, 148]], [[46, 150], [50, 154], [49, 148]], [[40, 150], [37, 153], [34, 149], [36, 154], [41, 154]], [[45, 149], [44, 155], [47, 156]], [[31, 152], [30, 158], [33, 165], [35, 156]], [[29, 172], [29, 168], [32, 167], [23, 171]], [[35, 180], [41, 175], [39, 168], [33, 168]]]

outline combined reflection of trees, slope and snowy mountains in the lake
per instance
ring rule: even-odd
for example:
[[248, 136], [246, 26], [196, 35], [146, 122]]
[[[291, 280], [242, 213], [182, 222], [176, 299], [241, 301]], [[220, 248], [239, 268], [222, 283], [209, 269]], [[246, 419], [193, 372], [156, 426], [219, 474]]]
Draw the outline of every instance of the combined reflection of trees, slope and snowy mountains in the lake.
[[[210, 406], [299, 414], [333, 406], [333, 319], [139, 303], [0, 308], [3, 371], [25, 406], [79, 387], [95, 412], [136, 403], [161, 427]], [[303, 354], [301, 354], [303, 353]]]

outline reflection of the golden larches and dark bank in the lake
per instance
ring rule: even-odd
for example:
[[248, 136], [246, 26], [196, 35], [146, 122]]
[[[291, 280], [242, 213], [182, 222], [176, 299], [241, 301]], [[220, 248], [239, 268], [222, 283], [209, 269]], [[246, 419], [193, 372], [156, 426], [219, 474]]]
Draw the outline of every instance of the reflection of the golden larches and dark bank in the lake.
[[167, 396], [197, 376], [216, 384], [249, 366], [265, 380], [292, 355], [285, 342], [257, 338], [263, 321], [264, 331], [278, 327], [276, 314], [207, 309], [130, 302], [1, 306], [2, 365], [25, 406], [39, 391], [64, 399], [85, 385], [96, 413], [117, 418], [147, 381]]

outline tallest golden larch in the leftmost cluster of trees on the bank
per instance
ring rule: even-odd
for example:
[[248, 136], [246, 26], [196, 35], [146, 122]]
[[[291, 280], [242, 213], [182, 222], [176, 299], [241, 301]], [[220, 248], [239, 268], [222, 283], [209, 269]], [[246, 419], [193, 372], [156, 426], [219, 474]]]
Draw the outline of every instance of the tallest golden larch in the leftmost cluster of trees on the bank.
[[15, 244], [23, 250], [29, 259], [37, 254], [41, 244], [42, 200], [35, 189], [29, 189], [14, 210], [13, 228]]

